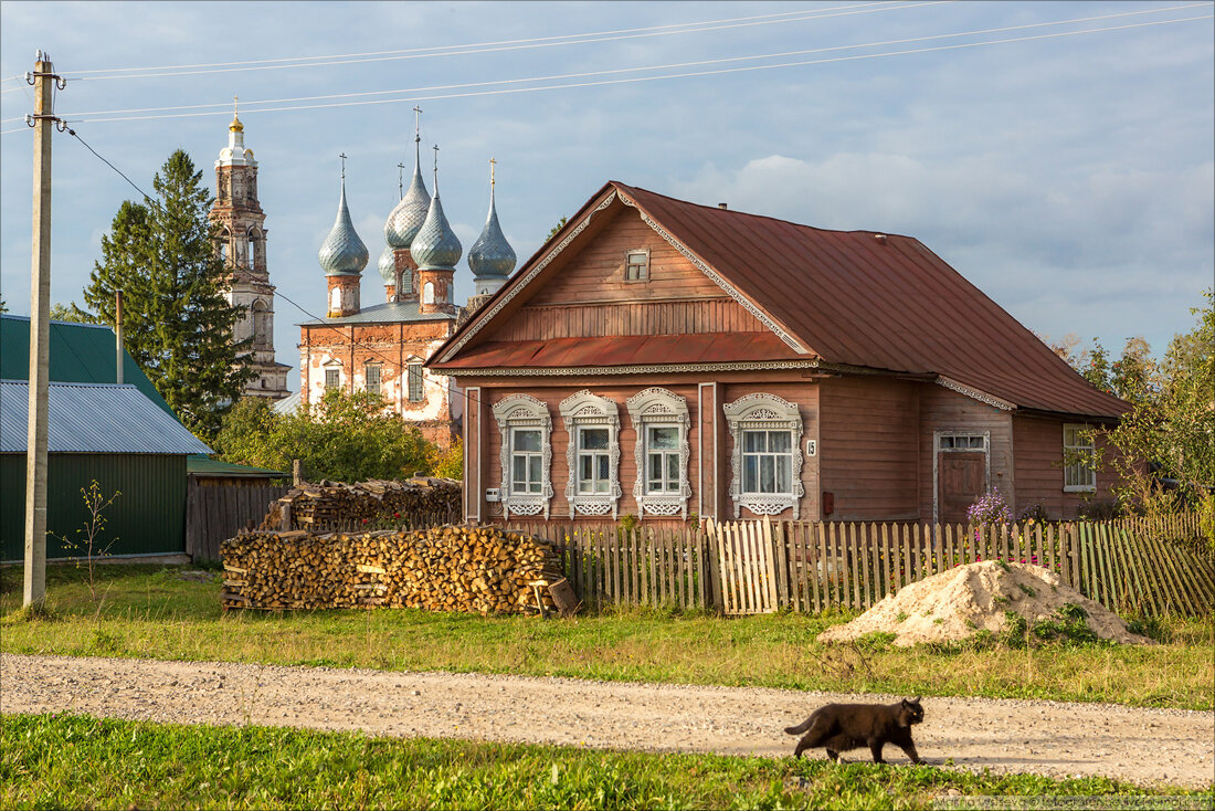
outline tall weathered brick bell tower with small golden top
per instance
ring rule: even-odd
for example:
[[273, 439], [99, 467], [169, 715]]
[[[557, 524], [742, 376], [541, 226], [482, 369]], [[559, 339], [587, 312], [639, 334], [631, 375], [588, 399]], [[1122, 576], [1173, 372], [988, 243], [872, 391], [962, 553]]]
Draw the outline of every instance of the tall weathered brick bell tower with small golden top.
[[228, 124], [228, 145], [215, 162], [210, 220], [215, 252], [227, 271], [227, 299], [244, 308], [232, 338], [253, 339], [249, 351], [258, 377], [245, 383], [244, 393], [284, 398], [290, 366], [275, 361], [275, 286], [266, 270], [266, 215], [258, 202], [258, 162], [244, 146], [244, 124], [236, 111]]

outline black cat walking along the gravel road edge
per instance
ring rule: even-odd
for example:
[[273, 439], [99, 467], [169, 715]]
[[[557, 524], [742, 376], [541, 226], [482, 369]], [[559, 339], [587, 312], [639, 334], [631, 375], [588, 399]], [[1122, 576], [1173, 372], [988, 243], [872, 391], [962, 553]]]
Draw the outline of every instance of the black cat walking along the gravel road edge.
[[814, 747], [826, 747], [827, 758], [838, 760], [841, 751], [869, 747], [875, 764], [885, 764], [882, 747], [893, 743], [906, 753], [911, 762], [920, 764], [920, 755], [911, 742], [911, 725], [923, 721], [920, 697], [903, 699], [898, 704], [827, 704], [810, 714], [796, 727], [786, 727], [789, 734], [801, 734], [793, 758]]

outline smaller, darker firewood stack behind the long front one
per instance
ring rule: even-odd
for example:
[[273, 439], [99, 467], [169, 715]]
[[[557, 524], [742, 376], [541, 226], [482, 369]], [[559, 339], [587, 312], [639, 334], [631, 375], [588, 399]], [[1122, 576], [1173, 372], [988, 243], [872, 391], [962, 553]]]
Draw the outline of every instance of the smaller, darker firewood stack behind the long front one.
[[357, 484], [320, 481], [292, 488], [270, 505], [264, 530], [355, 525], [397, 516], [458, 516], [463, 485], [456, 479], [414, 477]]

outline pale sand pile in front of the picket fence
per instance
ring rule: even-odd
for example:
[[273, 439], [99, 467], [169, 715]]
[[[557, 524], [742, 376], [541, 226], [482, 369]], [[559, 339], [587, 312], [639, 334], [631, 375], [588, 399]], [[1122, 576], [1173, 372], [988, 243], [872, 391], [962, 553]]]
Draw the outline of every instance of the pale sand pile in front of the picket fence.
[[[983, 561], [904, 586], [846, 625], [819, 635], [819, 642], [846, 642], [875, 631], [895, 633], [894, 644], [965, 640], [979, 630], [1000, 633], [1016, 612], [1033, 627], [1039, 620], [1059, 621], [1058, 609], [1073, 603], [1084, 621], [1103, 640], [1152, 644], [1131, 633], [1126, 624], [1101, 603], [1063, 585], [1058, 575], [1025, 563]], [[1064, 609], [1064, 614], [1067, 609]]]

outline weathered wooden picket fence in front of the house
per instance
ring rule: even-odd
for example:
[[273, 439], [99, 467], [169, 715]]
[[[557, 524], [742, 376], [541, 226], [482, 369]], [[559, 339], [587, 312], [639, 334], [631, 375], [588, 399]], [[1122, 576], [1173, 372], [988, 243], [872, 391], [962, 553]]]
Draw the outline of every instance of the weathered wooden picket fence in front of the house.
[[592, 610], [863, 610], [910, 582], [991, 559], [1040, 565], [1118, 612], [1202, 615], [1215, 606], [1215, 562], [1197, 516], [994, 526], [764, 519], [686, 529], [556, 522], [509, 528], [554, 541], [575, 592]]

